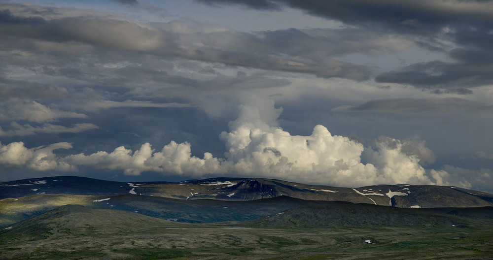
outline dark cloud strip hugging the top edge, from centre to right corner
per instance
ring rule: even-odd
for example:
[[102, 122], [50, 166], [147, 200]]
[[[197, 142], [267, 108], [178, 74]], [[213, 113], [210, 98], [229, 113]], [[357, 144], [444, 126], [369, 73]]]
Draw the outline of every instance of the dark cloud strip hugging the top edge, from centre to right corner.
[[[196, 0], [207, 3], [243, 4], [251, 6], [249, 0]], [[340, 20], [347, 24], [371, 27], [372, 23], [389, 28], [430, 31], [446, 25], [476, 24], [490, 26], [493, 10], [490, 0], [266, 0], [256, 8], [289, 6], [309, 14]], [[430, 27], [432, 26], [432, 27]]]

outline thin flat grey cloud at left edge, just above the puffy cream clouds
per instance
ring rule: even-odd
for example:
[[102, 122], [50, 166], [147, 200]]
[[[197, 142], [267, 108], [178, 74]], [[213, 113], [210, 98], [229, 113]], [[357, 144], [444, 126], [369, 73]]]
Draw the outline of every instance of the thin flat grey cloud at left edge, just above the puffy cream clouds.
[[8, 136], [24, 136], [24, 135], [33, 135], [36, 133], [79, 133], [88, 130], [99, 129], [98, 126], [91, 123], [81, 123], [81, 124], [73, 124], [70, 128], [59, 125], [52, 124], [43, 124], [41, 126], [33, 127], [29, 124], [19, 125], [18, 123], [12, 122], [10, 125], [11, 130], [3, 130], [0, 127], [0, 136], [8, 137]]

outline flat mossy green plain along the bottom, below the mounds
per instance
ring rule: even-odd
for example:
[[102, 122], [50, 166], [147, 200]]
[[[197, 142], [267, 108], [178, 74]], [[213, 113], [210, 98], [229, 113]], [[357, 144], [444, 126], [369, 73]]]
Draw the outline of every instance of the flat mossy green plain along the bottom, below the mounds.
[[[149, 227], [0, 236], [0, 259], [491, 259], [490, 228]], [[89, 228], [89, 227], [88, 227]], [[366, 243], [370, 240], [371, 243]]]

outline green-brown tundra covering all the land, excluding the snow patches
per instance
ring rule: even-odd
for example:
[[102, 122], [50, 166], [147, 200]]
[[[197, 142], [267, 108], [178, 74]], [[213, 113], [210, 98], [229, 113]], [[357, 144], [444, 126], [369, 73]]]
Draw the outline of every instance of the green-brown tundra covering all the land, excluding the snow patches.
[[[411, 192], [397, 196], [390, 206], [383, 200], [389, 194], [383, 188], [389, 186], [356, 188], [351, 193], [351, 189], [305, 188], [273, 180], [248, 182], [252, 185], [240, 187], [245, 184], [242, 180], [236, 181], [235, 185], [240, 184], [237, 187], [231, 184], [234, 182], [225, 181], [220, 185], [204, 185], [211, 181], [193, 184], [197, 195], [226, 194], [227, 200], [218, 199], [218, 195], [186, 199], [128, 193], [137, 186], [132, 191], [158, 190], [164, 194], [165, 186], [156, 183], [147, 184], [147, 190], [139, 188], [145, 186], [142, 184], [120, 187], [123, 185], [113, 183], [115, 189], [124, 188], [127, 193], [120, 195], [111, 189], [107, 195], [81, 195], [82, 190], [74, 187], [64, 191], [72, 194], [60, 194], [55, 187], [43, 186], [49, 182], [0, 186], [18, 194], [0, 200], [0, 259], [381, 260], [488, 259], [493, 255], [493, 207], [399, 207], [424, 201], [424, 195], [432, 195], [435, 203], [446, 203], [449, 197], [440, 192], [450, 191], [450, 187], [401, 185], [398, 190], [392, 186], [392, 196]], [[275, 182], [278, 186], [272, 185]], [[152, 185], [157, 188], [152, 190]], [[183, 193], [183, 189], [195, 189], [190, 185], [170, 187], [174, 193]], [[23, 194], [22, 189], [32, 192], [41, 189], [38, 187], [51, 190], [52, 194]], [[425, 188], [429, 193], [423, 192]], [[231, 189], [244, 198], [262, 195], [262, 191], [277, 196], [235, 199], [234, 195], [227, 196], [232, 194]], [[278, 195], [280, 189], [305, 197], [337, 191], [340, 196], [346, 193], [347, 198], [363, 198], [366, 203], [293, 198]], [[488, 202], [491, 196], [460, 192], [460, 203]], [[413, 193], [418, 195], [413, 197]], [[381, 205], [367, 197], [374, 197]], [[386, 197], [387, 203], [391, 201], [390, 196]]]

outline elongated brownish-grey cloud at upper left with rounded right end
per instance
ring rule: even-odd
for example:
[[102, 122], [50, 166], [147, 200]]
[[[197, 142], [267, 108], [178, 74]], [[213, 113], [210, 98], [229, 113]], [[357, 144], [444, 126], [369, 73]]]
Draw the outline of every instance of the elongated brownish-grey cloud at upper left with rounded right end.
[[[29, 8], [22, 5], [15, 7]], [[22, 10], [16, 11], [22, 12]], [[0, 32], [5, 35], [55, 42], [72, 40], [125, 50], [151, 50], [164, 47], [161, 45], [163, 35], [160, 31], [135, 21], [96, 15], [56, 19], [37, 16], [28, 19], [12, 14], [10, 9], [4, 9], [2, 12], [6, 14], [3, 16], [4, 20], [27, 20], [24, 23], [2, 24]]]

